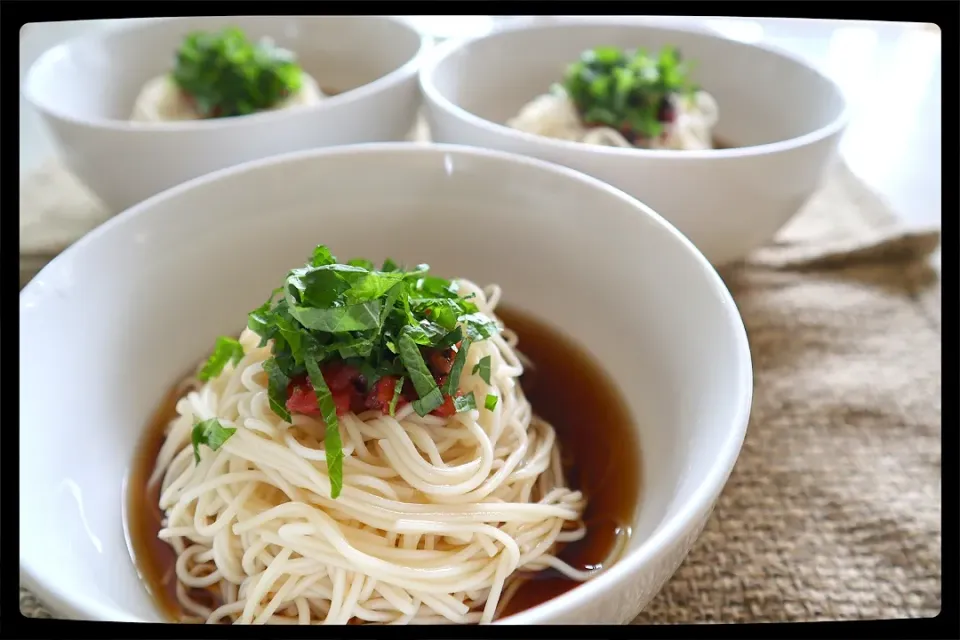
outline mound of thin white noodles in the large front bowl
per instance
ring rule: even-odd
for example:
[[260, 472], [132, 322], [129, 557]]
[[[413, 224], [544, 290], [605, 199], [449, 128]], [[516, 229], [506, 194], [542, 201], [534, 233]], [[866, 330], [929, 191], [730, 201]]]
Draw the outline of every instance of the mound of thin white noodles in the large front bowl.
[[[496, 319], [499, 287], [458, 284]], [[567, 488], [553, 428], [523, 395], [514, 333], [475, 342], [463, 368], [464, 393], [495, 395], [493, 411], [421, 417], [406, 405], [393, 417], [343, 416], [336, 500], [322, 422], [274, 415], [269, 347], [249, 330], [240, 342], [236, 366], [186, 388], [152, 476], [185, 611], [211, 623], [488, 623], [533, 571], [596, 574], [554, 555], [586, 534], [585, 500]], [[487, 356], [489, 384], [473, 373]], [[192, 425], [210, 417], [237, 431], [217, 451], [201, 448], [196, 463]], [[215, 610], [188, 589], [214, 586]]]

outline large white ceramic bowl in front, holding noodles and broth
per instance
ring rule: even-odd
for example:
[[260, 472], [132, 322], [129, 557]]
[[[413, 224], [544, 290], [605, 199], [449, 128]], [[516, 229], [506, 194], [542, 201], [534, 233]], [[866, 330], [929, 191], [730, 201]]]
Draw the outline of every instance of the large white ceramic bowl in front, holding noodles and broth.
[[631, 546], [609, 572], [508, 620], [631, 619], [686, 555], [739, 453], [752, 369], [737, 308], [688, 240], [613, 187], [409, 143], [198, 178], [110, 220], [23, 289], [23, 583], [63, 615], [159, 619], [124, 542], [134, 447], [176, 378], [321, 242], [499, 283], [617, 381], [643, 465]]

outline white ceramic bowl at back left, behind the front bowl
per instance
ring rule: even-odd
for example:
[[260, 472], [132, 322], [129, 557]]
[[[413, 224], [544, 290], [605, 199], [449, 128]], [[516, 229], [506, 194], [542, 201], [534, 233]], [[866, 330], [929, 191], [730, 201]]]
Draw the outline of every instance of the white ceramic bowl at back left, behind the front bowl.
[[[131, 123], [137, 94], [170, 71], [183, 37], [238, 26], [297, 54], [323, 88], [317, 105], [202, 122]], [[137, 22], [67, 41], [24, 82], [69, 168], [114, 211], [204, 173], [277, 153], [403, 140], [420, 107], [428, 42], [377, 16], [192, 17]]]

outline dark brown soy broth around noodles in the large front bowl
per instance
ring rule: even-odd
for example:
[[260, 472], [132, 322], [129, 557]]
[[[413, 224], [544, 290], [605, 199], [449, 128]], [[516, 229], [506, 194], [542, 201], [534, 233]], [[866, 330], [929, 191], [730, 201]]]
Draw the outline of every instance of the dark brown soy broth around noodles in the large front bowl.
[[[558, 555], [577, 569], [600, 566], [614, 549], [618, 530], [629, 532], [640, 497], [640, 460], [630, 414], [599, 364], [579, 346], [525, 313], [499, 307], [497, 315], [517, 333], [519, 350], [533, 363], [521, 379], [523, 391], [534, 413], [556, 430], [567, 483], [587, 497], [587, 535], [564, 545]], [[159, 486], [148, 487], [147, 481], [180, 395], [179, 385], [171, 389], [144, 434], [130, 477], [126, 523], [140, 576], [163, 616], [173, 622], [188, 614], [177, 601], [176, 556], [157, 538]], [[524, 574], [500, 618], [579, 584], [553, 569]], [[191, 596], [212, 606], [219, 599], [215, 589], [191, 590]]]

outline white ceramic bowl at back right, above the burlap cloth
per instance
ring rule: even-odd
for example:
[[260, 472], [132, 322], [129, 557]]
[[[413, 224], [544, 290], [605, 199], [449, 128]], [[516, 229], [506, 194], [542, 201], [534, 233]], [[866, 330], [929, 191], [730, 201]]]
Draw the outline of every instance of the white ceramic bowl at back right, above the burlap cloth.
[[[716, 98], [715, 151], [648, 151], [553, 140], [504, 123], [601, 45], [679, 47]], [[844, 130], [839, 88], [765, 46], [696, 30], [583, 20], [520, 26], [450, 41], [420, 72], [433, 140], [550, 160], [604, 180], [653, 207], [714, 264], [769, 241], [813, 194]]]

